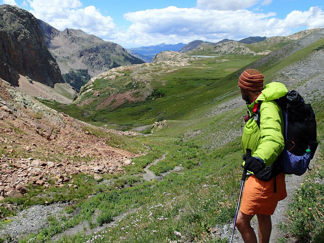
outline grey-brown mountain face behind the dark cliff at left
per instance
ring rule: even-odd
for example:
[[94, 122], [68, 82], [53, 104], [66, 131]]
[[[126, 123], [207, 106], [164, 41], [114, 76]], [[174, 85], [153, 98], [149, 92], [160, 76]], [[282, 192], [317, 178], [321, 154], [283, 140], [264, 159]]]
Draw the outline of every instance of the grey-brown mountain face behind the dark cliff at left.
[[[130, 55], [118, 44], [106, 42], [82, 30], [59, 31], [42, 20], [38, 21], [49, 51], [56, 59], [66, 81], [69, 79], [65, 74], [69, 73], [71, 76], [71, 72], [74, 72], [72, 76], [77, 77], [84, 71], [87, 71], [90, 76], [96, 76], [113, 67], [143, 63], [141, 59]], [[80, 78], [82, 79], [78, 77]], [[74, 80], [71, 85], [74, 86], [75, 83]]]

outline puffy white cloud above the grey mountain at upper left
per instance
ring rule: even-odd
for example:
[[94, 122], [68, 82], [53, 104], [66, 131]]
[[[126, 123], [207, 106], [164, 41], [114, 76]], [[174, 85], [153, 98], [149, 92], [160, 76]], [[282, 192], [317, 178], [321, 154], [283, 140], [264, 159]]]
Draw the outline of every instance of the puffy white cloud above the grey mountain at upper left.
[[106, 36], [114, 33], [110, 16], [103, 16], [94, 6], [82, 8], [79, 0], [28, 0], [30, 12], [59, 30], [82, 29], [86, 33]]

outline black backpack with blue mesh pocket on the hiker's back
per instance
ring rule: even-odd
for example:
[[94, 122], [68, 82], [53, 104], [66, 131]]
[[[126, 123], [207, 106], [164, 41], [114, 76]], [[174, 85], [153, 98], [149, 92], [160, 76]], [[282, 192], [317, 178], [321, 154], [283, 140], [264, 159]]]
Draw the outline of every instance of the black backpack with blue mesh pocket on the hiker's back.
[[[318, 142], [316, 140], [315, 113], [297, 91], [289, 91], [275, 100], [284, 116], [285, 148], [278, 156], [285, 174], [301, 176], [309, 168]], [[257, 110], [257, 124], [260, 128], [260, 106]]]

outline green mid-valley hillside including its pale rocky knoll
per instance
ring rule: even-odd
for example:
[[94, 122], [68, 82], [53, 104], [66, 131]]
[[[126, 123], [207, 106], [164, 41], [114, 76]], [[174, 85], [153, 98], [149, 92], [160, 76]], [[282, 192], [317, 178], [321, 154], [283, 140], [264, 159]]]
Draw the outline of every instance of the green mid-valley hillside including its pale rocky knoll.
[[[114, 80], [103, 76], [86, 85], [75, 102], [77, 107], [75, 104], [46, 104], [72, 116], [75, 116], [75, 109], [84, 109], [88, 115], [77, 118], [127, 128], [164, 119], [187, 119], [198, 116], [226, 97], [233, 97], [237, 93], [237, 84], [235, 81], [228, 82], [224, 77], [257, 58], [222, 56], [190, 61], [184, 67], [165, 63], [145, 64], [145, 67], [136, 70], [136, 76], [125, 69], [120, 71], [124, 76]], [[126, 99], [120, 102], [111, 98], [117, 95]], [[109, 99], [111, 102], [103, 105]]]

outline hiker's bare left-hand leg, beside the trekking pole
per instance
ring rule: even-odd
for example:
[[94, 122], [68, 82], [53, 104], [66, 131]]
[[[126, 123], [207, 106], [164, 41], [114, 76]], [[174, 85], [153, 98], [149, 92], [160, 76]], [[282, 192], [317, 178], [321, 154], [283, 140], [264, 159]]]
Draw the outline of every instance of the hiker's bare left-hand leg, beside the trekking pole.
[[245, 243], [258, 243], [257, 236], [250, 224], [253, 216], [254, 215], [244, 214], [240, 210], [237, 214], [236, 227], [241, 233]]

